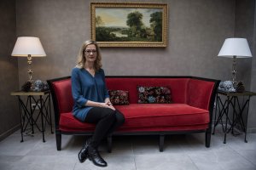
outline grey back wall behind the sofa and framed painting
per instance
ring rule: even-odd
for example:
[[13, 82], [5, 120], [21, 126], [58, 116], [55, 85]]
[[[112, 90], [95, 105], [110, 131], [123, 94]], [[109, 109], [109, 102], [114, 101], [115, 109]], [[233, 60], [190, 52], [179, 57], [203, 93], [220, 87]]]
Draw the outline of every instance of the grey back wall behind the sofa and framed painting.
[[[40, 37], [47, 54], [45, 58], [33, 59], [34, 80], [70, 75], [82, 42], [90, 39], [90, 2], [93, 1], [19, 0], [16, 1], [14, 12], [10, 12], [9, 9], [11, 14], [16, 12], [16, 36]], [[238, 12], [236, 1], [117, 0], [114, 2], [167, 3], [168, 46], [166, 48], [102, 48], [102, 63], [107, 75], [188, 75], [230, 80], [232, 61], [228, 58], [218, 58], [217, 54], [225, 38], [234, 37], [236, 30], [243, 32], [236, 26], [236, 23], [241, 21], [235, 16], [239, 14], [242, 18], [245, 10]], [[245, 2], [247, 4], [254, 1]], [[253, 7], [247, 8], [254, 12]], [[12, 8], [15, 8], [15, 5]], [[251, 30], [255, 32], [255, 27], [251, 27], [251, 20], [246, 22], [249, 26], [242, 36], [250, 37]], [[10, 20], [9, 23], [14, 24], [15, 19]], [[14, 35], [15, 31], [12, 36]], [[251, 47], [255, 48], [252, 38], [249, 42]], [[12, 43], [15, 43], [15, 40]], [[6, 60], [9, 59], [10, 51], [9, 49], [5, 52]], [[255, 72], [255, 66], [252, 66], [251, 62], [252, 60], [239, 60], [237, 64], [237, 79], [245, 82], [247, 89], [253, 89], [253, 82], [256, 82], [255, 76], [251, 74], [252, 71]], [[255, 64], [255, 59], [253, 62]], [[9, 65], [14, 64], [9, 62]], [[2, 67], [0, 69], [4, 71]], [[17, 67], [9, 68], [12, 71], [15, 69]], [[18, 59], [20, 81], [17, 89], [26, 82], [26, 71], [26, 59]], [[252, 79], [245, 78], [245, 74], [251, 75]], [[16, 84], [15, 80], [9, 80], [9, 83]], [[0, 97], [0, 99], [5, 98], [6, 96]], [[253, 104], [255, 105], [255, 100]], [[255, 110], [251, 112], [251, 115], [255, 115]], [[256, 129], [255, 122], [250, 122], [251, 130]]]

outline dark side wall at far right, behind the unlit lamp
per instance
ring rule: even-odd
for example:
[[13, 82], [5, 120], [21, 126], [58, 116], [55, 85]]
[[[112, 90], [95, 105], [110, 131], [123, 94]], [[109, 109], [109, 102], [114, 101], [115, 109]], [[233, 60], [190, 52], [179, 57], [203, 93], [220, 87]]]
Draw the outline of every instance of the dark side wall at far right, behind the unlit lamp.
[[[247, 90], [256, 92], [255, 87], [255, 68], [256, 68], [256, 59], [255, 59], [255, 1], [254, 0], [243, 0], [236, 1], [236, 22], [235, 22], [235, 36], [236, 37], [245, 37], [251, 48], [253, 58], [247, 59], [238, 59], [239, 65], [247, 65], [247, 67], [241, 67], [240, 70], [237, 70], [242, 77], [243, 82]], [[254, 74], [253, 74], [254, 73]], [[256, 97], [252, 97], [249, 108], [249, 116], [244, 115], [244, 120], [248, 120], [247, 127], [248, 129], [256, 132]], [[241, 102], [244, 102], [245, 99], [241, 98]]]

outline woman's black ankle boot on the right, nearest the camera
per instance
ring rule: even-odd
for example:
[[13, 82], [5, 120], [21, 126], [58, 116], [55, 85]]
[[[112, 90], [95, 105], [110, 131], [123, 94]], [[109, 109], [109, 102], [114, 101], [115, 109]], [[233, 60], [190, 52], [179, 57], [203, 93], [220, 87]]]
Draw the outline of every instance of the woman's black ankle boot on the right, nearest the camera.
[[99, 166], [99, 167], [108, 166], [107, 162], [102, 159], [102, 156], [100, 156], [98, 150], [96, 150], [91, 146], [89, 146], [89, 149], [88, 149], [88, 157], [89, 157], [89, 160], [92, 161], [96, 166]]

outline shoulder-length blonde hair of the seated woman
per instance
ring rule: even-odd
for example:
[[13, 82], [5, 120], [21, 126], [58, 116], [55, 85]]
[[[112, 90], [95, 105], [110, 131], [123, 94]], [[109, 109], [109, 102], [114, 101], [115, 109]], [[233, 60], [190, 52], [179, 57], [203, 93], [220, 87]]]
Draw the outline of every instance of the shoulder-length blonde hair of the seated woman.
[[102, 68], [102, 54], [101, 54], [98, 44], [92, 40], [85, 41], [83, 43], [82, 47], [80, 48], [79, 55], [78, 55], [78, 62], [77, 62], [76, 67], [78, 67], [79, 69], [84, 68], [84, 64], [86, 62], [84, 51], [87, 48], [87, 46], [90, 44], [94, 44], [96, 46], [97, 56], [96, 56], [96, 60], [94, 62], [94, 69], [96, 71], [99, 71]]

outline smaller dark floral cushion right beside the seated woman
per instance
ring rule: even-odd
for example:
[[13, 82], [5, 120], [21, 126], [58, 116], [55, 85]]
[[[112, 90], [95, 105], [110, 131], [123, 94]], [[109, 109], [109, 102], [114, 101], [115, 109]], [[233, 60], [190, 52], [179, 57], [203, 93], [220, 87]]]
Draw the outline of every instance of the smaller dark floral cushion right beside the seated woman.
[[113, 105], [129, 105], [129, 92], [124, 90], [108, 90], [110, 102]]

